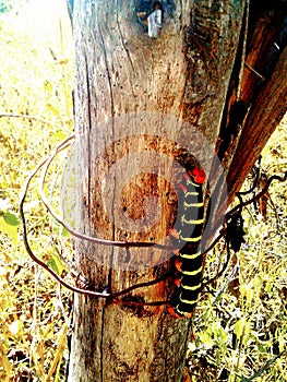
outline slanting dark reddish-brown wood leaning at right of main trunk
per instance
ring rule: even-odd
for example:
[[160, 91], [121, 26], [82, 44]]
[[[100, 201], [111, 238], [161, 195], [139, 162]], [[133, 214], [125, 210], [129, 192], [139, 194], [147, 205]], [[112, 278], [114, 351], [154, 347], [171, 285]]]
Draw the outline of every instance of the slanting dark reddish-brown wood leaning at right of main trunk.
[[218, 215], [234, 201], [287, 110], [286, 3], [254, 0], [246, 16], [216, 144], [228, 189]]

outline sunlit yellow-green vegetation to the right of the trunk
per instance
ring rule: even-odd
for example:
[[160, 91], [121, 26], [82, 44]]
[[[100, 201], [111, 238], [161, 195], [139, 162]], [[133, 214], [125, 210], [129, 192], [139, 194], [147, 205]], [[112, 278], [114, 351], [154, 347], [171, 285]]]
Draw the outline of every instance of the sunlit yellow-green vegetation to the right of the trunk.
[[[286, 171], [285, 129], [283, 122], [264, 148], [262, 168], [268, 176]], [[267, 213], [254, 205], [244, 210], [246, 242], [215, 284], [215, 296], [210, 295], [198, 311], [189, 353], [198, 375], [192, 381], [287, 380], [285, 199], [286, 184], [273, 183]], [[218, 247], [208, 253], [210, 274], [225, 261]]]

